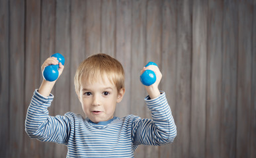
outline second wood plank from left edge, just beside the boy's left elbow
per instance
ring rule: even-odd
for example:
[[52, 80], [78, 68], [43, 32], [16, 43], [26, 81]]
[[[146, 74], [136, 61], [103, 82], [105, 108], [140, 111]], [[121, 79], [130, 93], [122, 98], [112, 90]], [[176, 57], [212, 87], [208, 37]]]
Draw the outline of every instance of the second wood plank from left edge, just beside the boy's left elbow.
[[10, 156], [21, 157], [24, 136], [24, 1], [10, 1]]

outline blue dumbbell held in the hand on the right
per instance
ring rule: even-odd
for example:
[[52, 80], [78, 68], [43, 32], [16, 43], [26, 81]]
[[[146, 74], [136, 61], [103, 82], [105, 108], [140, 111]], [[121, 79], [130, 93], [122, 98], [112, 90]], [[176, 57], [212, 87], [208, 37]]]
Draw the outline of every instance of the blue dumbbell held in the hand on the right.
[[[149, 65], [157, 66], [157, 64], [151, 61], [146, 65], [146, 67]], [[145, 86], [150, 86], [151, 84], [154, 84], [155, 81], [156, 81], [155, 72], [153, 72], [152, 70], [145, 70], [143, 74], [140, 75], [140, 82], [142, 82], [142, 84], [144, 84]]]

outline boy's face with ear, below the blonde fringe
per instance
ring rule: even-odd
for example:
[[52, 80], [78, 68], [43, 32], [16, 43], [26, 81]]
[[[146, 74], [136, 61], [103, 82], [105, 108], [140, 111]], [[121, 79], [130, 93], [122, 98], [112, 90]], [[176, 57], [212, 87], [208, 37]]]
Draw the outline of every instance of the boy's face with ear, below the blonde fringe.
[[103, 77], [103, 80], [87, 84], [82, 78], [79, 101], [83, 112], [93, 122], [98, 123], [113, 118], [116, 103], [122, 100], [124, 90], [117, 92], [116, 86]]

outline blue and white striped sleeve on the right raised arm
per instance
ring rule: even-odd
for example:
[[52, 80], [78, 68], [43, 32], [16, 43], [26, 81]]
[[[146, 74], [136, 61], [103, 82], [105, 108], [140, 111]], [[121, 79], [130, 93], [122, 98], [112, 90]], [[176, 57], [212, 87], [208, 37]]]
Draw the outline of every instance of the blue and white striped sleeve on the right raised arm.
[[163, 145], [173, 142], [177, 136], [176, 125], [171, 115], [165, 93], [155, 99], [145, 98], [152, 119], [137, 118], [132, 123], [134, 145]]

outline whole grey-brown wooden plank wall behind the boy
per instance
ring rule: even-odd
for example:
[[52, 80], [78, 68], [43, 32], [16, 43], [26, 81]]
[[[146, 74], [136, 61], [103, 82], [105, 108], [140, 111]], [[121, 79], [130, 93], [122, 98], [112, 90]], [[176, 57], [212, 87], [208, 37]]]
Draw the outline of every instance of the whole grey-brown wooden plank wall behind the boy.
[[66, 62], [50, 115], [83, 114], [73, 76], [101, 52], [126, 72], [116, 115], [150, 118], [139, 75], [155, 61], [177, 138], [140, 146], [135, 157], [256, 157], [255, 43], [255, 0], [1, 0], [0, 157], [65, 157], [65, 145], [24, 132], [40, 66], [57, 52]]

